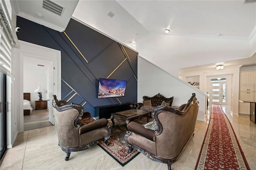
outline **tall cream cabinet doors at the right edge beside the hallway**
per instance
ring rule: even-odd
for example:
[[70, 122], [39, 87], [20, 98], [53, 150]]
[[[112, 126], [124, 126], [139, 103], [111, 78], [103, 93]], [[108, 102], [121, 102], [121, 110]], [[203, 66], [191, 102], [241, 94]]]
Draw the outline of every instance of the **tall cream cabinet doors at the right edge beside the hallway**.
[[[240, 73], [239, 100], [256, 101], [256, 71]], [[239, 113], [250, 115], [250, 103], [239, 102]]]

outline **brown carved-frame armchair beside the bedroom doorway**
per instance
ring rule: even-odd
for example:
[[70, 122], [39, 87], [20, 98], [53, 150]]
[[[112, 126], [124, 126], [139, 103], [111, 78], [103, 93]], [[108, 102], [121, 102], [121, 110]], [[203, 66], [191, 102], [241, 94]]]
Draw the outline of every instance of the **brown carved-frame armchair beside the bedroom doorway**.
[[84, 114], [81, 105], [58, 101], [53, 95], [52, 106], [58, 133], [58, 145], [66, 152], [65, 160], [71, 152], [85, 150], [100, 140], [108, 145], [111, 130], [106, 119], [94, 120], [90, 113]]

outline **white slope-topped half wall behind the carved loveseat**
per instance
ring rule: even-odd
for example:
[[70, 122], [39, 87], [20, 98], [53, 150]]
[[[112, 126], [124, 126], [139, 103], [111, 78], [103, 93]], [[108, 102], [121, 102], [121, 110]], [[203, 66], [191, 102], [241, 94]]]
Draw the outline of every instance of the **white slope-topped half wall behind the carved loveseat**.
[[167, 98], [173, 96], [172, 106], [187, 103], [192, 93], [196, 93], [196, 98], [200, 103], [197, 120], [205, 121], [206, 93], [138, 56], [137, 101], [142, 102], [144, 95], [152, 97], [158, 93]]

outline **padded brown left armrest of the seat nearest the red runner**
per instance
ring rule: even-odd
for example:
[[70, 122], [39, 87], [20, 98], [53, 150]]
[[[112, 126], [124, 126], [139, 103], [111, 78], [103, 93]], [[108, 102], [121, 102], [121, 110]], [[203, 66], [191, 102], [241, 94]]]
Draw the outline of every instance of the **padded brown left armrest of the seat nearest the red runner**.
[[134, 133], [139, 134], [145, 138], [148, 138], [149, 140], [154, 141], [154, 138], [155, 138], [154, 130], [147, 129], [143, 125], [140, 125], [136, 122], [130, 122], [127, 125], [127, 129], [130, 132], [134, 132]]

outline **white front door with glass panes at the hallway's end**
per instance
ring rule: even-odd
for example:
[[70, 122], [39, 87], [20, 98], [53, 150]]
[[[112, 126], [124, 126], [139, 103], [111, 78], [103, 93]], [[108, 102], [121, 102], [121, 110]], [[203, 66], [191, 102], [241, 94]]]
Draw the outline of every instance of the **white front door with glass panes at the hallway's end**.
[[217, 105], [226, 103], [226, 77], [211, 78], [210, 103]]

